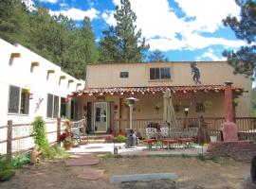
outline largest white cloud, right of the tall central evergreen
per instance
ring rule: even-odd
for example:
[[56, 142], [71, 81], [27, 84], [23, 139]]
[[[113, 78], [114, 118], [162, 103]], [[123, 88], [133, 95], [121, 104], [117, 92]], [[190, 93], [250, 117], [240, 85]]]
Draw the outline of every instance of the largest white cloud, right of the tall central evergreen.
[[[151, 50], [200, 49], [212, 44], [238, 47], [242, 41], [204, 37], [201, 32], [214, 33], [222, 27], [222, 19], [238, 16], [240, 9], [234, 0], [174, 0], [185, 17], [178, 17], [168, 0], [130, 0], [137, 14], [137, 28], [141, 28]], [[120, 5], [119, 0], [112, 0]], [[105, 11], [102, 18], [115, 26], [113, 11]], [[193, 18], [193, 19], [188, 19]], [[177, 38], [177, 34], [180, 35]]]

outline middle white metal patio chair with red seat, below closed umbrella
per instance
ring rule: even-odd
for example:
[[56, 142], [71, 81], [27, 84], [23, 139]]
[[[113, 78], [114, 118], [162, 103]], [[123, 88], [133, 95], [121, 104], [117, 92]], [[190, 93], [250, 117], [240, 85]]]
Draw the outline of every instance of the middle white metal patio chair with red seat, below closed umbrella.
[[169, 128], [161, 128], [161, 142], [162, 147], [164, 145], [168, 146], [168, 149], [170, 149], [171, 146], [175, 148], [175, 145], [178, 144], [178, 140], [175, 139], [174, 133], [171, 133]]

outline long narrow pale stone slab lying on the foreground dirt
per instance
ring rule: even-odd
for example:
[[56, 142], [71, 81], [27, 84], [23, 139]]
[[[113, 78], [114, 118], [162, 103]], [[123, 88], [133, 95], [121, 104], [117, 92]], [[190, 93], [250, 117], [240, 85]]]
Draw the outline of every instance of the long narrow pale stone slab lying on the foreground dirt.
[[177, 180], [175, 173], [152, 173], [152, 174], [135, 174], [119, 175], [110, 178], [110, 183], [121, 183], [125, 181], [151, 181], [151, 180]]

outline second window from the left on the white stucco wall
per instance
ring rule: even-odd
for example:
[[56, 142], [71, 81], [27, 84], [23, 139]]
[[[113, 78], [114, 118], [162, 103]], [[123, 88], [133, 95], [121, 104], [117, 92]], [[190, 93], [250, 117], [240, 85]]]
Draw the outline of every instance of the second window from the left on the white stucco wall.
[[59, 96], [47, 95], [47, 117], [57, 118], [59, 115]]

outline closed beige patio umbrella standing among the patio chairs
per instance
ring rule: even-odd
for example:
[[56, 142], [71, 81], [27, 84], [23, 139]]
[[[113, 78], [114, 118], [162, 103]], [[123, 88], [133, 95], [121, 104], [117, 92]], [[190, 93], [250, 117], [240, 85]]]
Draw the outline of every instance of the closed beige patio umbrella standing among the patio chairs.
[[167, 89], [164, 97], [163, 97], [163, 122], [164, 123], [169, 123], [170, 126], [176, 128], [177, 127], [177, 121], [175, 118], [175, 113], [174, 113], [174, 106], [173, 106], [173, 101], [172, 101], [172, 94], [170, 89]]

